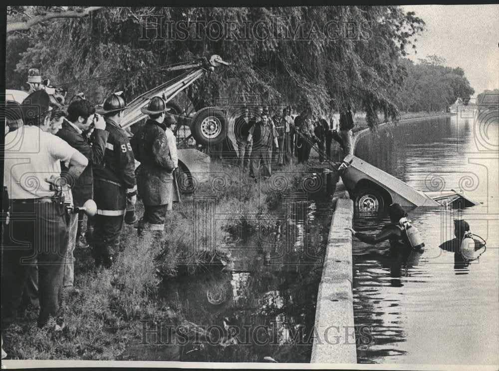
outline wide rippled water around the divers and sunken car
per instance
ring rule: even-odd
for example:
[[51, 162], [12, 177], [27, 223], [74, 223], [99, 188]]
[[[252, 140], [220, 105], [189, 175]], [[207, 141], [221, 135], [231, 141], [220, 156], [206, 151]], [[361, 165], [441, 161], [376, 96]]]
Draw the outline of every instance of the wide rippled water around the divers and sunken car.
[[[435, 118], [380, 129], [356, 147], [358, 157], [434, 195], [463, 191], [479, 206], [417, 208], [410, 219], [426, 244], [423, 254], [398, 256], [388, 243], [354, 238], [354, 316], [370, 326], [359, 363], [499, 364], [498, 123], [474, 117]], [[465, 219], [487, 241], [478, 260], [439, 246]], [[388, 219], [354, 216], [354, 229], [379, 231]]]

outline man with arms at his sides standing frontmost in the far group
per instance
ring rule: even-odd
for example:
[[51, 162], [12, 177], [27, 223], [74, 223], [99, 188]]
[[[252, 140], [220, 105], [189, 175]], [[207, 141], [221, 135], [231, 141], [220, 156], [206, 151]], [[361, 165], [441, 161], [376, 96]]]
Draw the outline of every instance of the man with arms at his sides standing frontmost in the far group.
[[250, 177], [257, 181], [260, 164], [263, 168], [263, 179], [270, 178], [270, 150], [272, 143], [279, 149], [277, 133], [268, 122], [268, 115], [262, 113], [261, 120], [250, 128], [248, 142], [253, 141], [250, 160]]

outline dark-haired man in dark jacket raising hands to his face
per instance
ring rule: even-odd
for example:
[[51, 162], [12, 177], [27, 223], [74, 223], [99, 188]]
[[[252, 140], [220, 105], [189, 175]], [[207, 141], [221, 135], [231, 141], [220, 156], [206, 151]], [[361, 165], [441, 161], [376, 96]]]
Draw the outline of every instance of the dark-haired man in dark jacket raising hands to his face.
[[[95, 126], [88, 140], [85, 132]], [[88, 199], [93, 198], [92, 166], [100, 165], [104, 159], [104, 151], [109, 133], [105, 130], [106, 123], [102, 116], [95, 113], [94, 105], [86, 99], [73, 100], [67, 109], [67, 119], [57, 136], [65, 140], [71, 147], [77, 149], [88, 159], [88, 165], [71, 188], [74, 207], [81, 207]], [[62, 165], [62, 171], [66, 167]], [[80, 225], [81, 230], [81, 225]], [[73, 288], [74, 284], [74, 248], [78, 231], [78, 213], [69, 218], [69, 242], [66, 252], [64, 269], [64, 288]]]

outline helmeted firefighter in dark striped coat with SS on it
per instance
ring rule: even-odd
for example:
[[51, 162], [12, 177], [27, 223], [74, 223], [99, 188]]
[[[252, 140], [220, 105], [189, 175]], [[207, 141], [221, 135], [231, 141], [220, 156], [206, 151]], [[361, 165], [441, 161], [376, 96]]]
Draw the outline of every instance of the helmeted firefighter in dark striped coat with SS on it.
[[102, 165], [93, 166], [94, 201], [97, 214], [94, 217], [92, 255], [96, 266], [109, 268], [117, 253], [117, 245], [127, 198], [135, 202], [135, 159], [128, 136], [120, 121], [126, 103], [123, 97], [113, 93], [106, 98], [97, 113], [104, 116], [109, 132]]

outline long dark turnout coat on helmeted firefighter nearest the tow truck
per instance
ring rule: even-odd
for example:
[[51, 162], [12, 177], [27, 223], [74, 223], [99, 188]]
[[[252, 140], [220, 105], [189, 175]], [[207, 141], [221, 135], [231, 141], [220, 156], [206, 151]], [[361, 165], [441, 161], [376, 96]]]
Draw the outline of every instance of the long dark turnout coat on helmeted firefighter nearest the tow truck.
[[131, 145], [137, 168], [137, 191], [144, 205], [166, 205], [172, 200], [173, 170], [166, 126], [156, 120], [147, 120], [135, 133]]

